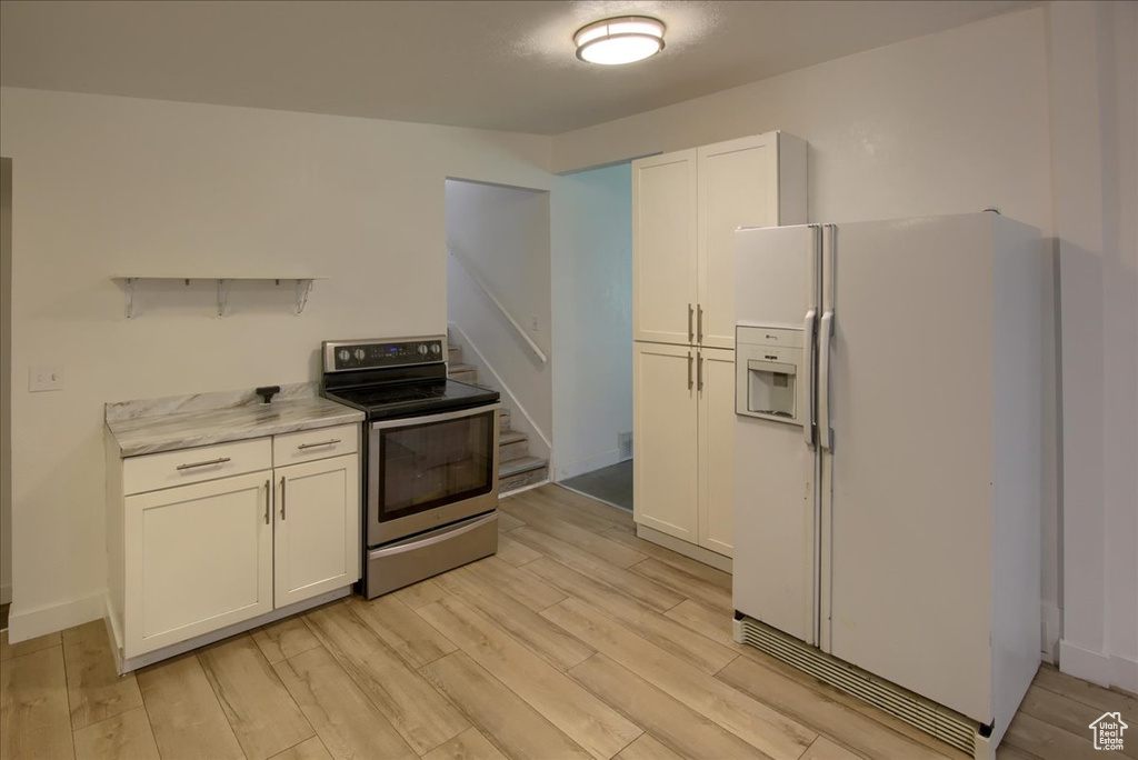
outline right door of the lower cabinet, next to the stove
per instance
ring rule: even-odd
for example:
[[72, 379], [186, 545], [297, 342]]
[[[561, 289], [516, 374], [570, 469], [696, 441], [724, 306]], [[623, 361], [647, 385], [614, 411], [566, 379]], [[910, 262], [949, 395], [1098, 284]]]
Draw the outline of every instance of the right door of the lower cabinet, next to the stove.
[[356, 454], [274, 471], [278, 608], [360, 579], [360, 457]]

